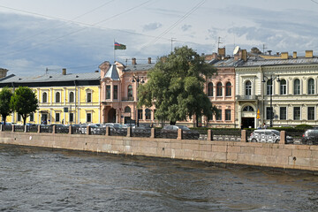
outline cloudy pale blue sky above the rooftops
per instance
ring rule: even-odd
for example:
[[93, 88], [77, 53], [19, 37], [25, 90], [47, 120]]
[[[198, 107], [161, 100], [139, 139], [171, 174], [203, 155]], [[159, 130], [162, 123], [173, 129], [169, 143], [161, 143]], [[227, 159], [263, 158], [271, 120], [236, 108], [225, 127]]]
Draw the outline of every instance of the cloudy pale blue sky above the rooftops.
[[200, 55], [218, 46], [318, 55], [317, 11], [318, 0], [0, 0], [0, 68], [95, 72], [104, 61], [155, 63], [185, 45]]

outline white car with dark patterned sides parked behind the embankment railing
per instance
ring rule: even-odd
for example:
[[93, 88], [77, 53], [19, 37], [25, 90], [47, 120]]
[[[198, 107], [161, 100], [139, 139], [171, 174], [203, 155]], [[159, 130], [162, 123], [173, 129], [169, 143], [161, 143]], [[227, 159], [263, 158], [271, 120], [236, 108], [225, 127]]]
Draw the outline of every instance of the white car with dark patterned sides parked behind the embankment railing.
[[[251, 133], [251, 142], [278, 143], [280, 132], [276, 130], [255, 130]], [[286, 143], [293, 143], [291, 136], [286, 136]]]

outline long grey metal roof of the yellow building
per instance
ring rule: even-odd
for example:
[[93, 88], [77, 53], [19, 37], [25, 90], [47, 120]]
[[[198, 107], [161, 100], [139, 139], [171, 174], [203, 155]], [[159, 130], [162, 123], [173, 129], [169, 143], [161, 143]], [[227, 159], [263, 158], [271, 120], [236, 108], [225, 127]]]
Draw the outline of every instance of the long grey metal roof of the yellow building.
[[100, 72], [87, 73], [68, 73], [60, 74], [44, 74], [39, 76], [19, 77], [11, 74], [3, 79], [0, 83], [30, 83], [30, 82], [57, 82], [57, 81], [74, 81], [74, 80], [99, 80], [101, 78]]

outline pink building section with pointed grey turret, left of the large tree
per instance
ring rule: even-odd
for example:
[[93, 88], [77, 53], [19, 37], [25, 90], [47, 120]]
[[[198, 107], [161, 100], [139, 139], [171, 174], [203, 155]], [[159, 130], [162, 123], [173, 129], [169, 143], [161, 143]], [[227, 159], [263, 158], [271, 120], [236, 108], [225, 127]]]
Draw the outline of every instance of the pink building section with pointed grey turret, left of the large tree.
[[102, 63], [101, 69], [101, 120], [102, 123], [152, 124], [154, 108], [137, 108], [137, 87], [147, 82], [148, 70], [155, 64], [148, 58], [148, 64], [137, 64], [133, 58], [131, 65], [119, 62]]

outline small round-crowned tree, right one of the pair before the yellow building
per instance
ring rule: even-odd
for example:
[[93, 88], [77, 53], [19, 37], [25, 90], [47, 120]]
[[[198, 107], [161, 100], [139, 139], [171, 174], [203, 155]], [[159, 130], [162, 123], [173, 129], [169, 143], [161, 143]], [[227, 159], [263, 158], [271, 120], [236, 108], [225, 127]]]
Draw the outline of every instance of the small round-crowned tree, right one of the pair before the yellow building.
[[36, 95], [29, 87], [19, 87], [14, 91], [10, 101], [11, 109], [20, 114], [23, 118], [23, 125], [26, 125], [30, 113], [38, 109]]

